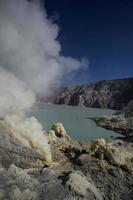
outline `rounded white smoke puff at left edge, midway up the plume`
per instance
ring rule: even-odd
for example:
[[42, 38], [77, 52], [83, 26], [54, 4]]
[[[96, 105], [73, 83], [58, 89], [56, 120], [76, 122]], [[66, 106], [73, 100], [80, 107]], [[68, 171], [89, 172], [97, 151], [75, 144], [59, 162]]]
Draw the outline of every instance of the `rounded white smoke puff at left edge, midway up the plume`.
[[35, 95], [17, 77], [0, 67], [0, 117], [26, 112], [35, 102]]

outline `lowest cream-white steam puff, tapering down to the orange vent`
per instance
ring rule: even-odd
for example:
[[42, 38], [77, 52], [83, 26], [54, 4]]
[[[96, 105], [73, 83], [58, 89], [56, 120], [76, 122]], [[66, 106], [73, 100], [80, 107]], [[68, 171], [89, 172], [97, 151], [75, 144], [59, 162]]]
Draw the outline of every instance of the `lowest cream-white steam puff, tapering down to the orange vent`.
[[6, 117], [0, 120], [0, 126], [7, 129], [10, 135], [23, 145], [43, 155], [48, 163], [52, 161], [49, 140], [44, 135], [41, 124], [34, 117], [23, 120], [18, 116]]

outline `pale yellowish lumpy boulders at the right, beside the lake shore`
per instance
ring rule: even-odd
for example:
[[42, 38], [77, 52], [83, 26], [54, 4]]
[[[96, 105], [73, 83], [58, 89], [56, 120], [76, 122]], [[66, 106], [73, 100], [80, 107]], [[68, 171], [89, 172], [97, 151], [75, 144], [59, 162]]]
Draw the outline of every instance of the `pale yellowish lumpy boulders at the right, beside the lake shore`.
[[106, 160], [110, 164], [125, 167], [133, 171], [133, 155], [130, 146], [126, 144], [118, 145], [114, 142], [106, 142], [104, 139], [98, 139], [91, 144], [91, 155], [95, 155], [101, 160]]

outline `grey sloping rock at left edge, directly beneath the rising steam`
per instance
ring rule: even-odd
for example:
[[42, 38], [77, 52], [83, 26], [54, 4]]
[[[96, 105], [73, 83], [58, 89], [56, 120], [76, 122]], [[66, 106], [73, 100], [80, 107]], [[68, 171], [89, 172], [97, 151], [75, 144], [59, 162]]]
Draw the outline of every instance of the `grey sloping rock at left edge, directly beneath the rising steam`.
[[0, 128], [0, 164], [8, 168], [12, 163], [21, 168], [42, 167], [45, 158], [11, 137]]

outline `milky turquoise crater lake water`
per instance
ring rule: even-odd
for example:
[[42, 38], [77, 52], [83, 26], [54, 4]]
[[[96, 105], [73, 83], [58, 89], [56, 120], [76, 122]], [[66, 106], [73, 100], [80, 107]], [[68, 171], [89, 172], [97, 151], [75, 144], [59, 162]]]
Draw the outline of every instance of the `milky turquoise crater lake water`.
[[49, 130], [55, 122], [63, 123], [67, 132], [75, 139], [110, 138], [119, 134], [96, 126], [89, 118], [101, 117], [114, 113], [107, 109], [81, 108], [64, 105], [43, 105], [35, 107], [30, 115], [34, 115]]

